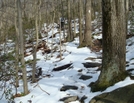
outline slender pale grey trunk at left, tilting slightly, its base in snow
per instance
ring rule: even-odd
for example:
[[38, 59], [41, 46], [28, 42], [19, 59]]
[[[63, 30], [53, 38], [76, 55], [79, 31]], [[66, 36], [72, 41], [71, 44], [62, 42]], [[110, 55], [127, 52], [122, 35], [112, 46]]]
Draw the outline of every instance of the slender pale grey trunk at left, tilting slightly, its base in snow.
[[18, 9], [18, 28], [19, 28], [19, 38], [20, 38], [20, 56], [21, 56], [21, 68], [23, 73], [23, 89], [24, 94], [28, 94], [28, 85], [27, 85], [27, 72], [24, 60], [24, 40], [23, 40], [23, 30], [22, 30], [22, 11], [21, 11], [21, 2], [17, 0], [17, 9]]

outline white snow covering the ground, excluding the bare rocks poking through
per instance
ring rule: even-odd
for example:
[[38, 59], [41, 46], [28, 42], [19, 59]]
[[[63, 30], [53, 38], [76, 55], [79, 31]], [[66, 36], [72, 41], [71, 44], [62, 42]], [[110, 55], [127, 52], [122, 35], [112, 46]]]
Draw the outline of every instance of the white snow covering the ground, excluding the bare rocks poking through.
[[[45, 24], [46, 25], [46, 24]], [[98, 30], [96, 30], [98, 32]], [[49, 36], [52, 35], [52, 32], [56, 33], [57, 29], [51, 30], [48, 34]], [[58, 34], [59, 35], [59, 34]], [[99, 35], [98, 38], [101, 38], [102, 35]], [[97, 36], [95, 37], [97, 38]], [[51, 42], [51, 39], [49, 39]], [[128, 46], [129, 44], [134, 42], [134, 38], [130, 38], [127, 40], [127, 53], [126, 53], [126, 60], [130, 61], [129, 67], [126, 69], [134, 68], [134, 45]], [[77, 48], [78, 47], [78, 38], [75, 38], [73, 42], [65, 43], [65, 47], [62, 46], [62, 49], [65, 49], [63, 54], [63, 60], [56, 58], [57, 52], [53, 53], [53, 57], [51, 58], [48, 54], [49, 59], [46, 59], [46, 55], [42, 55], [41, 50], [37, 52], [37, 67], [41, 67], [43, 69], [42, 79], [38, 81], [38, 83], [28, 83], [29, 94], [23, 97], [15, 98], [15, 103], [28, 103], [28, 101], [32, 101], [32, 103], [63, 103], [59, 101], [59, 99], [66, 97], [66, 96], [78, 96], [81, 98], [82, 96], [87, 96], [88, 98], [85, 100], [85, 103], [89, 103], [89, 101], [96, 95], [99, 95], [104, 92], [109, 92], [115, 90], [116, 88], [123, 87], [129, 84], [134, 83], [134, 80], [131, 80], [127, 77], [124, 81], [120, 81], [116, 83], [114, 86], [107, 88], [103, 92], [94, 92], [90, 91], [90, 87], [88, 85], [91, 82], [94, 82], [98, 79], [100, 71], [96, 71], [97, 67], [95, 68], [85, 68], [82, 63], [84, 62], [92, 62], [92, 60], [86, 60], [88, 57], [97, 58], [98, 54], [92, 52], [89, 48]], [[102, 52], [102, 51], [101, 51]], [[25, 60], [32, 60], [32, 55], [25, 57]], [[93, 62], [101, 62], [100, 59], [95, 59]], [[69, 69], [65, 69], [62, 71], [52, 71], [53, 68], [73, 63], [72, 67]], [[30, 67], [27, 67], [29, 69]], [[81, 70], [82, 72], [78, 72]], [[50, 76], [47, 76], [47, 75]], [[81, 75], [90, 75], [92, 76], [91, 79], [88, 80], [81, 80], [79, 77]], [[23, 92], [22, 82], [20, 81], [21, 86], [18, 88], [19, 92]], [[78, 86], [78, 90], [67, 90], [67, 91], [60, 91], [60, 88], [63, 85], [75, 85]], [[46, 93], [47, 92], [47, 93]], [[1, 94], [1, 91], [0, 91]], [[50, 95], [49, 95], [50, 94]], [[0, 100], [0, 103], [6, 103], [5, 99], [3, 98]], [[79, 101], [74, 101], [70, 103], [79, 103]]]

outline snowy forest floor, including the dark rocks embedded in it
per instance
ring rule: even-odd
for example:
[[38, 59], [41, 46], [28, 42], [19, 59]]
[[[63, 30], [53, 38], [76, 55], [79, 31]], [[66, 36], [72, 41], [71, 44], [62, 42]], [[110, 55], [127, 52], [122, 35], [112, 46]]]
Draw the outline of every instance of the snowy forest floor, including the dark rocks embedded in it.
[[[89, 84], [95, 82], [100, 74], [102, 50], [92, 51], [87, 47], [77, 48], [79, 38], [76, 37], [74, 41], [62, 44], [62, 58], [59, 58], [60, 34], [57, 32], [55, 28], [53, 30], [53, 33], [55, 33], [53, 48], [56, 50], [52, 54], [44, 53], [43, 49], [39, 49], [37, 52], [36, 65], [37, 69], [42, 68], [42, 75], [36, 83], [31, 83], [30, 79], [28, 79], [29, 94], [16, 97], [15, 103], [68, 103], [69, 101], [71, 101], [69, 103], [89, 103], [96, 95], [134, 83], [134, 80], [127, 77], [124, 81], [116, 83], [103, 92], [91, 92]], [[47, 46], [51, 49], [52, 30], [48, 32], [49, 36], [42, 35], [44, 37], [41, 40], [47, 41]], [[102, 35], [95, 35], [94, 39], [96, 40], [97, 38], [102, 38]], [[131, 70], [131, 74], [134, 74], [134, 37], [126, 41], [126, 70]], [[25, 57], [26, 62], [30, 62], [32, 59], [32, 55]], [[32, 66], [27, 64], [27, 71], [31, 70]], [[30, 72], [28, 72], [28, 75], [30, 75]], [[23, 84], [20, 81], [18, 92], [21, 93], [22, 91]], [[4, 98], [0, 102], [6, 103]]]

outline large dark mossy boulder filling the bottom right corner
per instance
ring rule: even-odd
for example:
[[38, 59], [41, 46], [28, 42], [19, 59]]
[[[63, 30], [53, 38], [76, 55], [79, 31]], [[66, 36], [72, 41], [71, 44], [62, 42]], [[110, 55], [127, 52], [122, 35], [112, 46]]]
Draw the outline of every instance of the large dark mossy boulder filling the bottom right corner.
[[134, 84], [95, 96], [89, 103], [134, 103]]

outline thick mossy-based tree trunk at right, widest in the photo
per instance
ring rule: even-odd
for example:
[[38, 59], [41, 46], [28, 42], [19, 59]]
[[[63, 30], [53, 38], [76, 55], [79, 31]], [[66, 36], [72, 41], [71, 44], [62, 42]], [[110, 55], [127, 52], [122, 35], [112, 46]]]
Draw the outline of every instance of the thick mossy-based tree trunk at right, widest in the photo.
[[123, 80], [126, 64], [125, 0], [102, 0], [103, 60], [99, 79], [91, 85], [92, 91], [104, 90]]

